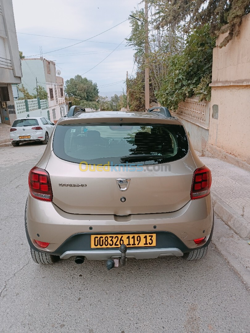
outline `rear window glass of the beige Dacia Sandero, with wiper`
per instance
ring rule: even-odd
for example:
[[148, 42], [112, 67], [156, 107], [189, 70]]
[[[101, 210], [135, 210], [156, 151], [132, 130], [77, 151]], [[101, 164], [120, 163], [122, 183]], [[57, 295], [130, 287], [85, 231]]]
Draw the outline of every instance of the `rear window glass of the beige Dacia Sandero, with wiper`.
[[53, 151], [74, 163], [148, 165], [183, 158], [188, 140], [182, 125], [67, 124], [56, 127]]

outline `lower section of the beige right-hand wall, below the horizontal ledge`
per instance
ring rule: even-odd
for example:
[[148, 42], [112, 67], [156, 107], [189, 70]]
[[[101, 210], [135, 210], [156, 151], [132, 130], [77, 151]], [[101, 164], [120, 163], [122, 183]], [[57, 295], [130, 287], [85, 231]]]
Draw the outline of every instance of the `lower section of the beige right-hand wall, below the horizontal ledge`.
[[[218, 105], [218, 119], [212, 106]], [[209, 144], [250, 163], [250, 86], [213, 87]]]

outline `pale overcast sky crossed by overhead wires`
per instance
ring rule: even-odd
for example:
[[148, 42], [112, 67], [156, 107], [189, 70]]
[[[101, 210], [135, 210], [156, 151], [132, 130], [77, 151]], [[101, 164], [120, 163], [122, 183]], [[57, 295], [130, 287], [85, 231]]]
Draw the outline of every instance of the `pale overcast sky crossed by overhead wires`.
[[[122, 43], [118, 47], [121, 51], [114, 51], [83, 76], [96, 82], [100, 92], [120, 92], [123, 87], [125, 89], [123, 82], [104, 85], [125, 80], [126, 71], [131, 74], [133, 70], [133, 49], [127, 47], [126, 41], [123, 41], [131, 32], [128, 21], [90, 41], [60, 51], [55, 50], [88, 39], [126, 20], [135, 7], [144, 6], [138, 5], [140, 0], [12, 1], [19, 50], [25, 57], [40, 57], [41, 46], [43, 57], [55, 61], [61, 76], [67, 80], [90, 70]], [[54, 52], [46, 53], [50, 51]]]

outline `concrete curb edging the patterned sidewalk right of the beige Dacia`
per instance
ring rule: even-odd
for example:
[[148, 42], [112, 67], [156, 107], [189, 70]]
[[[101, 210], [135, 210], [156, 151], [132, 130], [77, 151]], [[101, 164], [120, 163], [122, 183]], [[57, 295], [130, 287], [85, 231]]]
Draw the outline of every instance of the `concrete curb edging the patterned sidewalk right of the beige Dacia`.
[[242, 239], [250, 238], [250, 222], [211, 192], [214, 212]]

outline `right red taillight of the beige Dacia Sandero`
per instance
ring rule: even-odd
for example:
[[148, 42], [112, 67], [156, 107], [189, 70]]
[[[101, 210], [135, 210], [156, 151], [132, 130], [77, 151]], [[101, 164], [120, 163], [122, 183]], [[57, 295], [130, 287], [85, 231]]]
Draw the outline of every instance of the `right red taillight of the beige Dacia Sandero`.
[[210, 192], [212, 182], [211, 171], [203, 166], [194, 171], [193, 183], [191, 188], [191, 200], [203, 198]]

